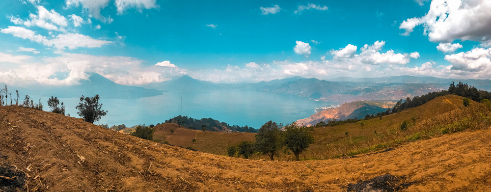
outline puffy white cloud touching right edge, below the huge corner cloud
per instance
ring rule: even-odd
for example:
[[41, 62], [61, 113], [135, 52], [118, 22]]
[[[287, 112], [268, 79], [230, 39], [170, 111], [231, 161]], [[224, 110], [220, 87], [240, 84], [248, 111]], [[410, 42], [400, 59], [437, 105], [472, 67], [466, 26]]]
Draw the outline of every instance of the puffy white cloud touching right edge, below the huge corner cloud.
[[445, 55], [445, 60], [452, 63], [452, 70], [480, 72], [488, 76], [491, 72], [491, 48], [474, 48], [465, 53]]

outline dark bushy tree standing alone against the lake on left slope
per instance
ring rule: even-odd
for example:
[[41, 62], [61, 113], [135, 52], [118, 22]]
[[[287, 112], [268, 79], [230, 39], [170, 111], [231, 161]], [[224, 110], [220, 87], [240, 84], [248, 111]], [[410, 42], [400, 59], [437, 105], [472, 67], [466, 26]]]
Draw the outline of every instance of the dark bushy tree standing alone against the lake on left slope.
[[76, 109], [79, 110], [79, 114], [85, 122], [94, 123], [94, 121], [99, 121], [102, 116], [105, 116], [108, 111], [101, 110], [102, 104], [99, 104], [99, 95], [94, 97], [80, 97], [80, 103]]

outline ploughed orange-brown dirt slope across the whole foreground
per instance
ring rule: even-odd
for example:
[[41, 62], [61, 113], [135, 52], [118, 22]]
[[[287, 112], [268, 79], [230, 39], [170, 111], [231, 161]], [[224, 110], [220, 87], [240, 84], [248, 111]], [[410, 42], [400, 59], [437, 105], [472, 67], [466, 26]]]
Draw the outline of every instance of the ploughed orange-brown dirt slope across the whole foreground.
[[190, 151], [72, 117], [0, 107], [0, 153], [7, 156], [0, 163], [29, 174], [31, 191], [341, 192], [348, 183], [390, 173], [416, 182], [406, 192], [484, 192], [491, 187], [490, 141], [491, 130], [484, 128], [355, 158], [271, 162]]

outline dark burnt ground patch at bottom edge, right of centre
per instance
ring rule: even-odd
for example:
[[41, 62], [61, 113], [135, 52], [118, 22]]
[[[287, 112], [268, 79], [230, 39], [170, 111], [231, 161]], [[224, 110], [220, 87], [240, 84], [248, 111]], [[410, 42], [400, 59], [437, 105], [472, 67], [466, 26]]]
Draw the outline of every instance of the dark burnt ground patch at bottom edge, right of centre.
[[395, 192], [409, 187], [416, 182], [408, 182], [406, 176], [385, 174], [370, 180], [360, 180], [346, 186], [347, 192]]

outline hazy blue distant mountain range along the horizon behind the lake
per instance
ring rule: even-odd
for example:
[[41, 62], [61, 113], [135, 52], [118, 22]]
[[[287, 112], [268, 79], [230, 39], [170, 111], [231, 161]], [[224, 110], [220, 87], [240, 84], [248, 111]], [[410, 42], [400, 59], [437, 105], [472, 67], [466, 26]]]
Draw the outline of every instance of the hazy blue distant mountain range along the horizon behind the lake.
[[[291, 94], [313, 100], [330, 102], [353, 102], [359, 100], [399, 100], [401, 98], [420, 96], [428, 92], [448, 88], [452, 82], [462, 81], [478, 89], [491, 90], [491, 80], [451, 80], [434, 77], [392, 76], [381, 78], [338, 77], [326, 80], [315, 78], [292, 77], [281, 80], [258, 83], [213, 83], [199, 81], [190, 76], [178, 79], [150, 83], [140, 86], [121, 85], [93, 73], [88, 80], [79, 85], [30, 87], [12, 87], [19, 89], [21, 95], [36, 93], [42, 96], [80, 97], [99, 94], [103, 98], [136, 99], [164, 94], [166, 91], [199, 92], [209, 90], [241, 89], [271, 93]], [[15, 91], [14, 91], [15, 92]]]

